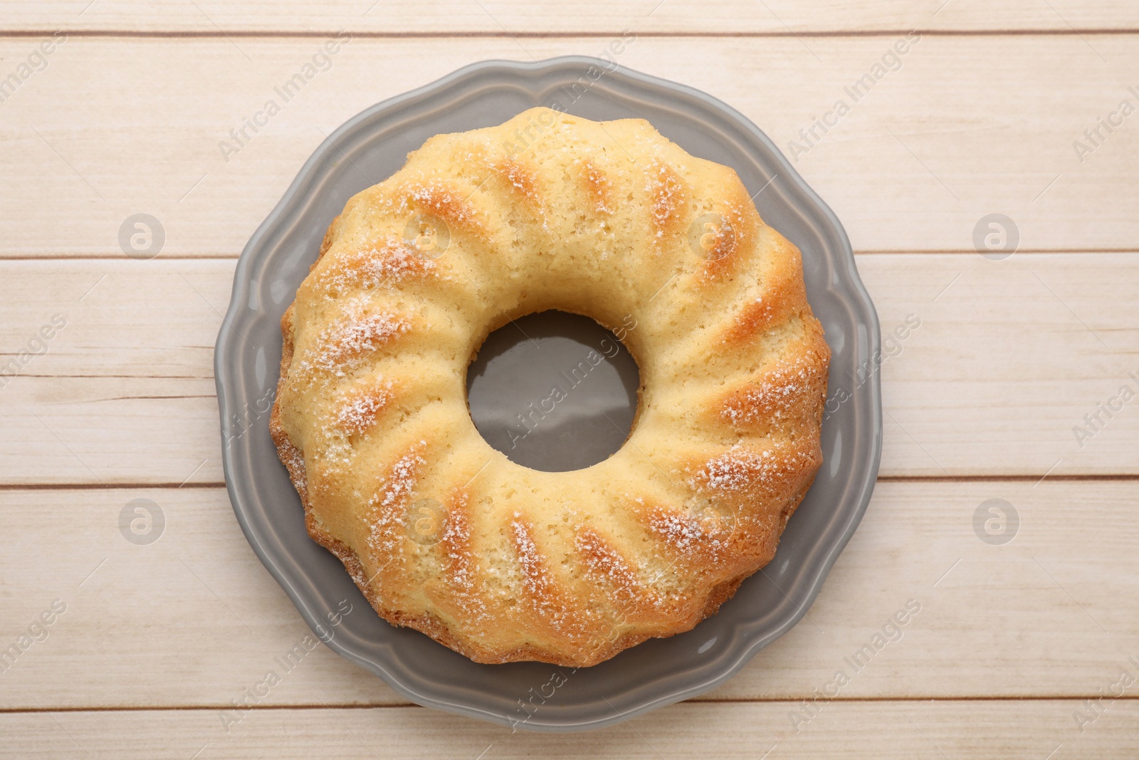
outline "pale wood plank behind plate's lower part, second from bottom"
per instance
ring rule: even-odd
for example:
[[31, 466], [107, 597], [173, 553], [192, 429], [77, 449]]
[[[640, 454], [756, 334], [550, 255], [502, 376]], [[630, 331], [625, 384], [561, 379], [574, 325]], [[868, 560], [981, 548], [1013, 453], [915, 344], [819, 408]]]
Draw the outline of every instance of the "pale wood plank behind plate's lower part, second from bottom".
[[[162, 510], [153, 544], [120, 530], [134, 499]], [[1006, 545], [974, 531], [989, 499], [1016, 510]], [[0, 505], [0, 644], [66, 605], [0, 673], [0, 709], [220, 708], [308, 635], [221, 488], [5, 490]], [[839, 670], [844, 700], [1107, 692], [1120, 668], [1139, 677], [1137, 508], [1133, 481], [882, 482], [808, 618], [707, 698], [812, 698]], [[320, 646], [263, 706], [399, 702]]]

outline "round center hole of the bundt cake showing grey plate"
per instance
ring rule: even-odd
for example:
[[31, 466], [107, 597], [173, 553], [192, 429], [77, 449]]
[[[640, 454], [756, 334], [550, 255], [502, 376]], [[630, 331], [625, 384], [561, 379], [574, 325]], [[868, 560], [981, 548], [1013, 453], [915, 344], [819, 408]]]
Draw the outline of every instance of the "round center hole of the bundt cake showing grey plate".
[[511, 461], [582, 469], [629, 436], [640, 373], [617, 337], [589, 317], [542, 311], [491, 333], [467, 369], [475, 427]]

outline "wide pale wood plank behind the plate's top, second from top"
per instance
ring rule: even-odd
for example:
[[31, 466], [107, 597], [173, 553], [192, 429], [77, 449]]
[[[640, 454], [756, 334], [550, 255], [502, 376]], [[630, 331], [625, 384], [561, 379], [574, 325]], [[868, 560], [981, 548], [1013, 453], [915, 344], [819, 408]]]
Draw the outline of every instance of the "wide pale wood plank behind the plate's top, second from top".
[[[1139, 131], [1117, 111], [1139, 105], [1128, 89], [1139, 92], [1136, 39], [926, 35], [887, 58], [898, 67], [887, 72], [896, 34], [641, 36], [618, 60], [751, 117], [795, 155], [860, 251], [973, 250], [974, 228], [991, 213], [1015, 220], [1023, 250], [1133, 250]], [[57, 46], [47, 68], [0, 104], [0, 182], [10, 188], [0, 194], [0, 256], [123, 258], [118, 229], [136, 213], [161, 220], [162, 255], [236, 256], [325, 136], [363, 108], [472, 62], [607, 44], [357, 38], [223, 155], [230, 131], [280, 100], [274, 88], [322, 42], [73, 36]], [[38, 43], [3, 39], [0, 60], [15, 66]], [[883, 77], [855, 101], [846, 90], [871, 72]], [[838, 100], [850, 108], [842, 119], [830, 113]], [[1097, 119], [1111, 114], [1122, 126], [1108, 134]], [[823, 133], [817, 119], [836, 125]], [[1088, 129], [1100, 129], [1095, 146]], [[1095, 147], [1082, 162], [1076, 140]]]

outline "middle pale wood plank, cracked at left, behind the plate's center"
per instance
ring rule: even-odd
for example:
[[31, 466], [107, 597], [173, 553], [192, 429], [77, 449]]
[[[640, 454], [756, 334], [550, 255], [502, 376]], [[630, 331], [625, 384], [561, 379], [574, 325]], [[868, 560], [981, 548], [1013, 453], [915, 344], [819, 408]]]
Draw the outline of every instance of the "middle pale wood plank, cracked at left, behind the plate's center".
[[[887, 338], [883, 475], [1139, 473], [1139, 406], [1121, 394], [1139, 391], [1139, 255], [858, 262]], [[0, 263], [0, 363], [67, 320], [0, 378], [0, 482], [221, 482], [212, 346], [232, 267]], [[919, 326], [890, 338], [908, 318]], [[836, 378], [835, 401], [855, 382]]]

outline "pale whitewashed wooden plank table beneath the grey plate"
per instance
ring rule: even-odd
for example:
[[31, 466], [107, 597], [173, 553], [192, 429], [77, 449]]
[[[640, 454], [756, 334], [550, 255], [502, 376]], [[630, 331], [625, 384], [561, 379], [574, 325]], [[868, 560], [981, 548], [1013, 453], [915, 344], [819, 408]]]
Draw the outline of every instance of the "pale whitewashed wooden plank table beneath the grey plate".
[[[1136, 3], [5, 0], [0, 28], [3, 757], [1139, 753]], [[330, 67], [237, 145], [341, 30]], [[623, 30], [621, 64], [722, 98], [795, 155], [884, 334], [920, 321], [882, 366], [861, 528], [743, 672], [606, 730], [408, 705], [325, 647], [227, 730], [308, 632], [223, 485], [212, 354], [238, 253], [357, 112], [480, 59], [601, 54]], [[161, 221], [157, 258], [124, 255], [138, 213]], [[989, 214], [1013, 220], [1013, 255], [978, 254]], [[159, 540], [124, 539], [134, 499], [159, 505]], [[907, 603], [894, 640], [817, 698]]]

